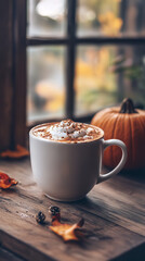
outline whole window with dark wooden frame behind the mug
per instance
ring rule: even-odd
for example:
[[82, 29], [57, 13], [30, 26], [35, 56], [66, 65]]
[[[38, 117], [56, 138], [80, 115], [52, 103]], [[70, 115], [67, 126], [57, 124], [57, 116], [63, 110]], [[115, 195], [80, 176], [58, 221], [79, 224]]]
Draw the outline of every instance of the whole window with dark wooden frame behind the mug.
[[145, 107], [144, 0], [2, 1], [0, 15], [0, 150], [26, 125], [90, 121], [127, 96]]

